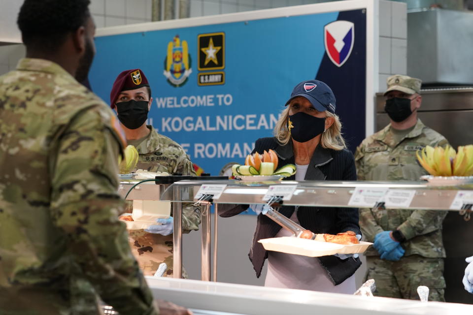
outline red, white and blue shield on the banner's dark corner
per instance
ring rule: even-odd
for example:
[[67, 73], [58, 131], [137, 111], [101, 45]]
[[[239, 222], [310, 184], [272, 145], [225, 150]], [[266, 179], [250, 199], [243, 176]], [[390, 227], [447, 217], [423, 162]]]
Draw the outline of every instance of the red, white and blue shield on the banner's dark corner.
[[335, 21], [324, 28], [325, 51], [338, 67], [350, 57], [355, 41], [355, 24], [348, 21]]

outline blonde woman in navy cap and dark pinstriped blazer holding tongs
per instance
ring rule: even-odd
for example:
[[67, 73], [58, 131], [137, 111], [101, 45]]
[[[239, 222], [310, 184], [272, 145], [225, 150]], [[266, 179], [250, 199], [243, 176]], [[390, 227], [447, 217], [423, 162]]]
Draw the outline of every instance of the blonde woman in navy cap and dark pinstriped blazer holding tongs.
[[[325, 83], [318, 80], [299, 83], [274, 127], [274, 137], [256, 140], [252, 153], [262, 154], [272, 149], [278, 156], [278, 165], [295, 164], [295, 176], [286, 180], [356, 180], [355, 161], [341, 136], [335, 101]], [[220, 215], [234, 216], [247, 207], [239, 205]], [[361, 265], [357, 256], [307, 257], [266, 251], [258, 243], [260, 239], [292, 233], [263, 215], [262, 207], [251, 208], [258, 214], [258, 222], [249, 258], [257, 277], [268, 258], [266, 286], [347, 294], [355, 291], [354, 273]], [[279, 212], [314, 233], [346, 232], [361, 238], [358, 209], [283, 206]]]

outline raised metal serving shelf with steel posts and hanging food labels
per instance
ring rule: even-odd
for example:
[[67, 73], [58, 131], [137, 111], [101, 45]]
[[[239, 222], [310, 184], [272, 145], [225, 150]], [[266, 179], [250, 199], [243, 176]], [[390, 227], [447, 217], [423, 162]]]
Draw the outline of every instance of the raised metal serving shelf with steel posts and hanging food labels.
[[[122, 182], [120, 191], [122, 194], [130, 191], [129, 199], [157, 200], [158, 187], [153, 181], [139, 184], [139, 181]], [[182, 218], [182, 203], [196, 202], [195, 195], [203, 185], [209, 187], [220, 187], [221, 195], [209, 195], [210, 201], [200, 203], [202, 207], [202, 280], [209, 281], [210, 277], [210, 204], [214, 204], [215, 224], [214, 235], [218, 228], [218, 205], [221, 204], [266, 204], [263, 196], [267, 194], [270, 187], [284, 188], [295, 187], [290, 200], [284, 200], [284, 205], [319, 206], [319, 207], [360, 207], [350, 204], [350, 198], [354, 191], [362, 190], [385, 190], [398, 192], [403, 190], [411, 192], [408, 204], [390, 206], [383, 204], [385, 208], [394, 209], [424, 209], [424, 210], [449, 210], [459, 190], [473, 191], [473, 183], [462, 186], [433, 186], [427, 182], [335, 182], [335, 181], [179, 181], [169, 186], [160, 196], [159, 200], [169, 200], [172, 203], [174, 218]], [[161, 190], [162, 191], [162, 190]], [[381, 200], [379, 200], [381, 201]], [[374, 204], [373, 204], [374, 205]], [[471, 205], [463, 205], [461, 208], [470, 208]], [[469, 212], [470, 210], [460, 210]], [[467, 213], [468, 214], [468, 213]], [[182, 268], [182, 220], [174, 220], [174, 278], [181, 278]], [[213, 281], [216, 281], [216, 257], [217, 238], [214, 238], [213, 252]]]

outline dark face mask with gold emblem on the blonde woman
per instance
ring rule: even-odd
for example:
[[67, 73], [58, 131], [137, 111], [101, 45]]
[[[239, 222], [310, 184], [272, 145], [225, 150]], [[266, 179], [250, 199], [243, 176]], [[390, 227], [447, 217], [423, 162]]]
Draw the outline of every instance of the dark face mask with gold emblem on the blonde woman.
[[325, 131], [325, 118], [299, 112], [289, 115], [287, 127], [297, 142], [306, 142]]

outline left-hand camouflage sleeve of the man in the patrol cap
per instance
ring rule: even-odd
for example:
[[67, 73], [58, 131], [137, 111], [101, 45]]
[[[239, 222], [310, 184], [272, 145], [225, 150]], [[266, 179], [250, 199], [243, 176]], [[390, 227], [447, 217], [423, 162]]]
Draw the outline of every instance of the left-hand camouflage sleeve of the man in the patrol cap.
[[[366, 180], [364, 173], [364, 143], [365, 141], [356, 148], [355, 152], [356, 175], [359, 181]], [[360, 228], [367, 242], [374, 242], [374, 236], [384, 231], [374, 219], [372, 209], [369, 208], [360, 208]]]

